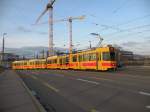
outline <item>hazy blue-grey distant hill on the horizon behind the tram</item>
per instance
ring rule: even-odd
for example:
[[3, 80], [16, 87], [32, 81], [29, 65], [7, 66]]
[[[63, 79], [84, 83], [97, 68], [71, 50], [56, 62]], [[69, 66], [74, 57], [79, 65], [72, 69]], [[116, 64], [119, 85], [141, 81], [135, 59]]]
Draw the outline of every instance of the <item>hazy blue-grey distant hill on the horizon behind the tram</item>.
[[[48, 47], [43, 46], [36, 46], [36, 47], [21, 47], [21, 48], [5, 48], [5, 52], [7, 53], [14, 53], [19, 56], [25, 56], [25, 57], [33, 57], [34, 54], [40, 54], [42, 51], [48, 51]], [[54, 51], [60, 51], [60, 52], [68, 52], [65, 48], [59, 48], [55, 47]]]

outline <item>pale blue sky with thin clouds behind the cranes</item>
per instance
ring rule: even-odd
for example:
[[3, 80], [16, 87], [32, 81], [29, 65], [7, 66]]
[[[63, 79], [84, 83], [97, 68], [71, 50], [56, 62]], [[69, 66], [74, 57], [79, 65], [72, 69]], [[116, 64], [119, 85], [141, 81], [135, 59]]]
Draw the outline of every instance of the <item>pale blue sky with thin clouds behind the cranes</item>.
[[[33, 25], [48, 0], [0, 0], [0, 40], [7, 33], [6, 47], [48, 47], [48, 13]], [[113, 44], [137, 54], [150, 55], [150, 0], [56, 0], [54, 20], [85, 15], [73, 21], [73, 45]], [[45, 22], [45, 24], [40, 24]], [[2, 41], [0, 41], [0, 48]], [[54, 23], [54, 47], [68, 47], [68, 22]]]

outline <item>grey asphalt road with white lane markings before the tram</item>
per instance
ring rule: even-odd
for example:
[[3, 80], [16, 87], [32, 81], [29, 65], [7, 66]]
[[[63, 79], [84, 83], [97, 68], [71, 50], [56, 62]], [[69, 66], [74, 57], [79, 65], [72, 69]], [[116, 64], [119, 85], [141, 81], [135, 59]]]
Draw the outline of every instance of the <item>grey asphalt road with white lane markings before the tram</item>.
[[150, 112], [150, 67], [17, 73], [48, 112]]

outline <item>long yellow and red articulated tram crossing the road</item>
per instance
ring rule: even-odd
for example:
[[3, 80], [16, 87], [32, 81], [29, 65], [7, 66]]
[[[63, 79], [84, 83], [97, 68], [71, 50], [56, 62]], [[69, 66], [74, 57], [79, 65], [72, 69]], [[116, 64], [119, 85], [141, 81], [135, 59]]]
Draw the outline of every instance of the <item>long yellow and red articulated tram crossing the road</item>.
[[78, 69], [101, 70], [116, 69], [114, 47], [100, 47], [77, 53], [51, 56], [47, 59], [15, 61], [12, 69]]

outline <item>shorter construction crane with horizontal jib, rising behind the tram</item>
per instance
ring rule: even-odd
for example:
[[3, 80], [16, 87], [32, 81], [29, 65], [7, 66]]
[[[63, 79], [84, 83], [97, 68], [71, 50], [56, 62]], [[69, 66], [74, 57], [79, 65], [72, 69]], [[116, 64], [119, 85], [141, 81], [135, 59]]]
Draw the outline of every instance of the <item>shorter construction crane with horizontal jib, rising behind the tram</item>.
[[[72, 53], [72, 21], [73, 20], [83, 20], [85, 19], [85, 15], [82, 15], [82, 16], [78, 16], [78, 17], [68, 17], [68, 18], [65, 18], [65, 19], [60, 19], [60, 20], [53, 20], [54, 23], [56, 22], [63, 22], [63, 21], [68, 21], [69, 22], [69, 53]], [[40, 24], [46, 24], [47, 22], [43, 22], [43, 23], [40, 23]]]

